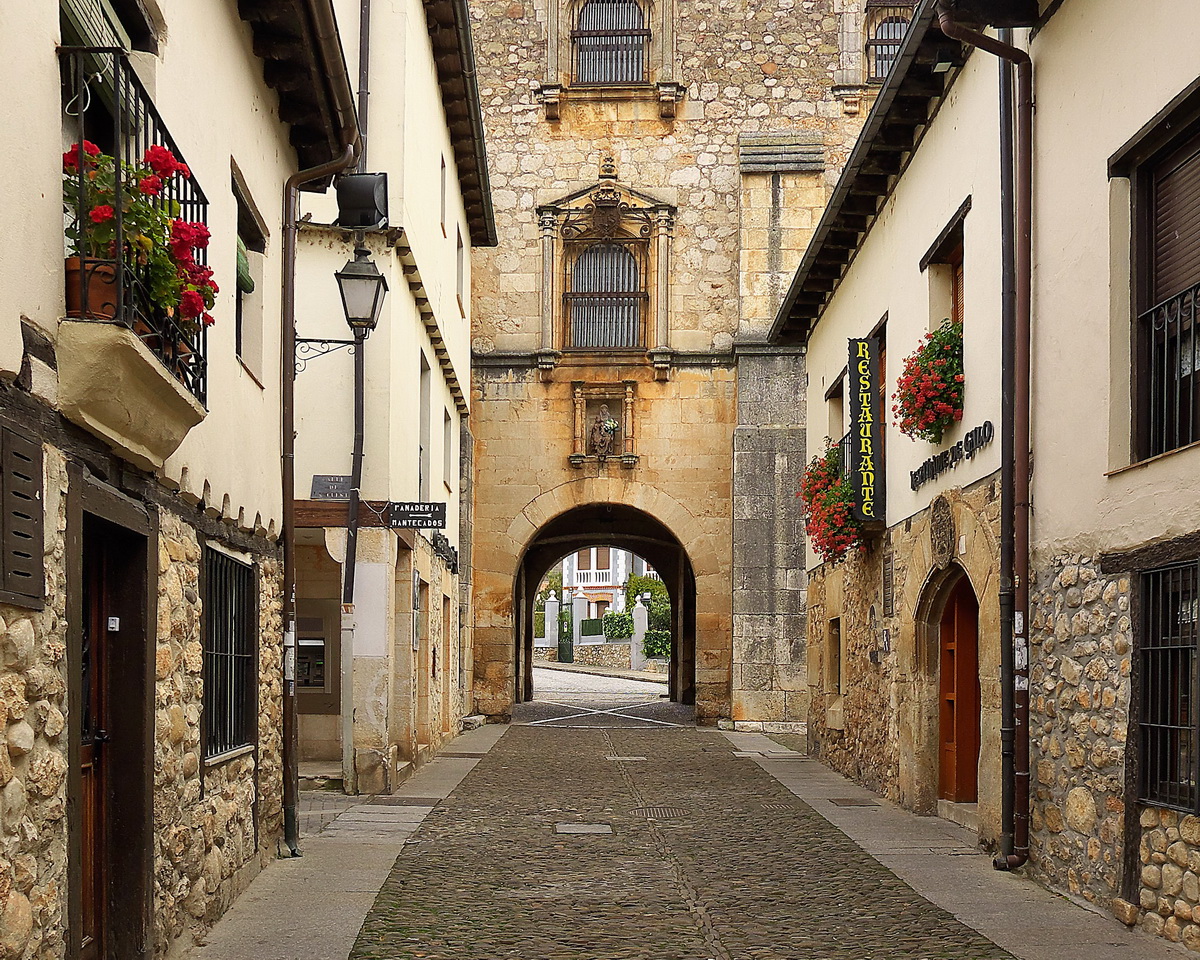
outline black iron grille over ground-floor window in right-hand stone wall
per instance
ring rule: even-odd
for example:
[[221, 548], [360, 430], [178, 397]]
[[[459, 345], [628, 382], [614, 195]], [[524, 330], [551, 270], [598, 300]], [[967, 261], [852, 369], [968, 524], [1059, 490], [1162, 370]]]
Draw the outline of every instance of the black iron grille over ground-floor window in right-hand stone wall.
[[1200, 814], [1196, 649], [1200, 562], [1141, 577], [1139, 799]]

